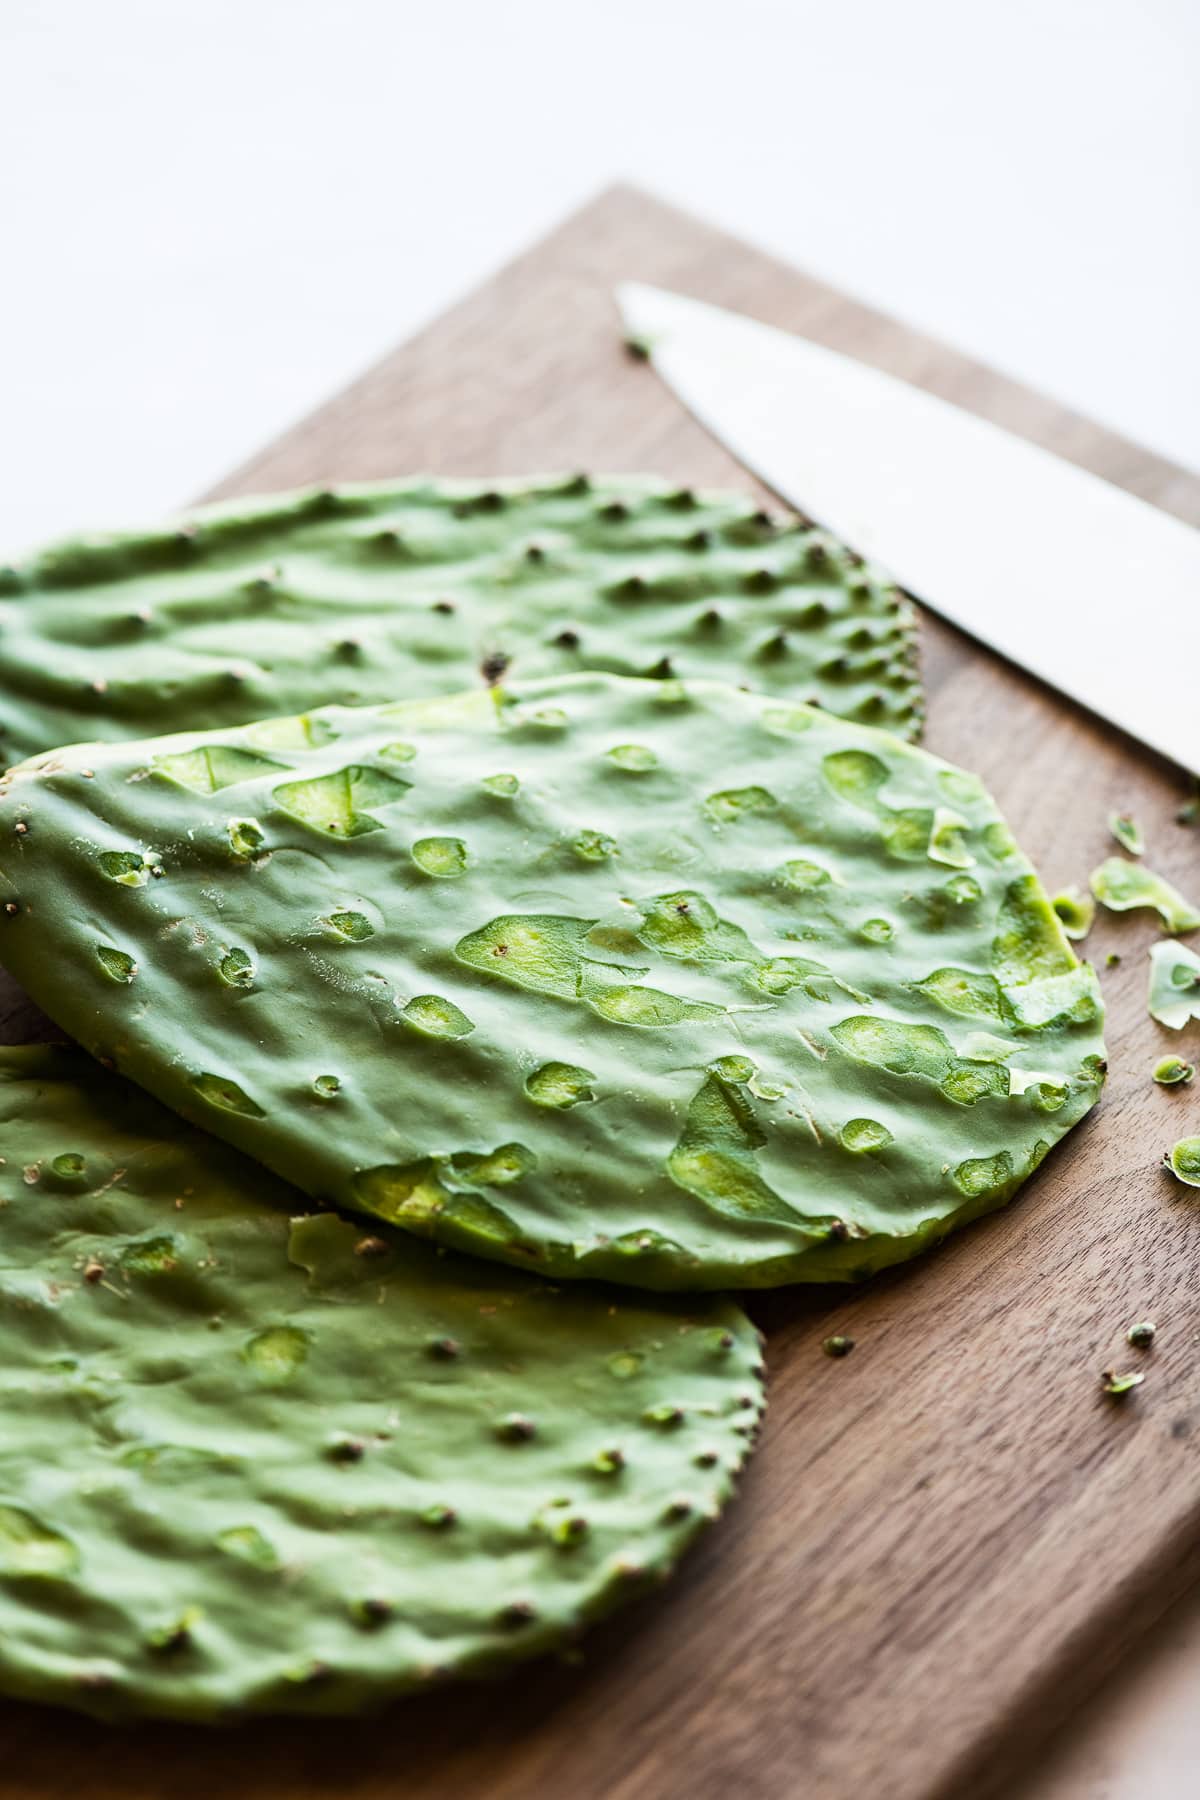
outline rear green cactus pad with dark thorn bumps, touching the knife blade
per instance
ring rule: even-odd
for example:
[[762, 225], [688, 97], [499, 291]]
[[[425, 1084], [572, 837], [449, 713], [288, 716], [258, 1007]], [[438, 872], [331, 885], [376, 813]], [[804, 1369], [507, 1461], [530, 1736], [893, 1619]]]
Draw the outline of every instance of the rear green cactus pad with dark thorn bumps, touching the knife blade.
[[918, 736], [912, 612], [826, 533], [646, 477], [234, 500], [0, 569], [0, 767], [85, 738], [610, 670]]

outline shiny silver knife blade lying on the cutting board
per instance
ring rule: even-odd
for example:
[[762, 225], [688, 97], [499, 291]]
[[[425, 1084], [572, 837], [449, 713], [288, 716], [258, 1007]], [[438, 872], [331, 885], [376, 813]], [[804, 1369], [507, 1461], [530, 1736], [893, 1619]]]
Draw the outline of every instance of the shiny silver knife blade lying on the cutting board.
[[909, 382], [624, 283], [685, 407], [900, 587], [1187, 770], [1200, 770], [1200, 531]]

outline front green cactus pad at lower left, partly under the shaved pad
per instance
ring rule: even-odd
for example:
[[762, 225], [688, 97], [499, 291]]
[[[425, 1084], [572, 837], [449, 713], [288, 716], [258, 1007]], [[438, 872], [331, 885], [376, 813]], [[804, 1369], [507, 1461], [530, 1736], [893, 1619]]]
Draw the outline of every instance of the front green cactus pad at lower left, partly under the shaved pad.
[[333, 1213], [76, 1049], [0, 1053], [0, 1692], [349, 1712], [664, 1577], [761, 1413], [730, 1303]]

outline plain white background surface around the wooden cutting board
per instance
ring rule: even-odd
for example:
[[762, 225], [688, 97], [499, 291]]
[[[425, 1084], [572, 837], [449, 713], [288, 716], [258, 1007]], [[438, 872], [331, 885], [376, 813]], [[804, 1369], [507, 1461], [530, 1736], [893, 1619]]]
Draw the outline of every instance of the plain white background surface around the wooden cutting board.
[[[615, 176], [1200, 466], [1198, 90], [1198, 0], [0, 0], [0, 553], [182, 504]], [[1193, 1791], [1164, 1642], [1040, 1791]]]

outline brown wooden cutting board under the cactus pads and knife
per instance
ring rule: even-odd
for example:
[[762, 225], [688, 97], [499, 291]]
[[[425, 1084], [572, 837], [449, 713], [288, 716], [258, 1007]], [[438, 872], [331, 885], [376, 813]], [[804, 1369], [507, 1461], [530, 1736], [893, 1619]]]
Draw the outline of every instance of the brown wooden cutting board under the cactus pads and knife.
[[[1195, 477], [628, 189], [219, 491], [576, 466], [750, 486], [621, 351], [621, 277], [806, 331], [1200, 522]], [[1087, 632], [1087, 594], [1063, 603]], [[1153, 596], [1130, 594], [1130, 628], [1151, 625]], [[1200, 891], [1200, 832], [1173, 823], [1177, 772], [937, 619], [921, 630], [928, 745], [986, 778], [1052, 887], [1087, 878], [1114, 848], [1106, 814], [1130, 808], [1153, 864]], [[1200, 644], [1164, 653], [1186, 648]], [[1097, 965], [1123, 958], [1103, 977], [1108, 1091], [1006, 1213], [867, 1291], [754, 1301], [772, 1404], [741, 1498], [581, 1663], [371, 1723], [108, 1730], [2, 1708], [0, 1795], [975, 1800], [1000, 1787], [1200, 1571], [1200, 1195], [1159, 1168], [1166, 1145], [1200, 1130], [1200, 1093], [1150, 1080], [1180, 1048], [1146, 1017], [1153, 936], [1114, 916], [1092, 932]], [[18, 1017], [11, 994], [5, 1010]], [[1139, 1359], [1123, 1334], [1146, 1316], [1159, 1339]], [[856, 1339], [847, 1361], [820, 1354], [831, 1330]], [[1123, 1404], [1099, 1391], [1114, 1361], [1148, 1375]]]

